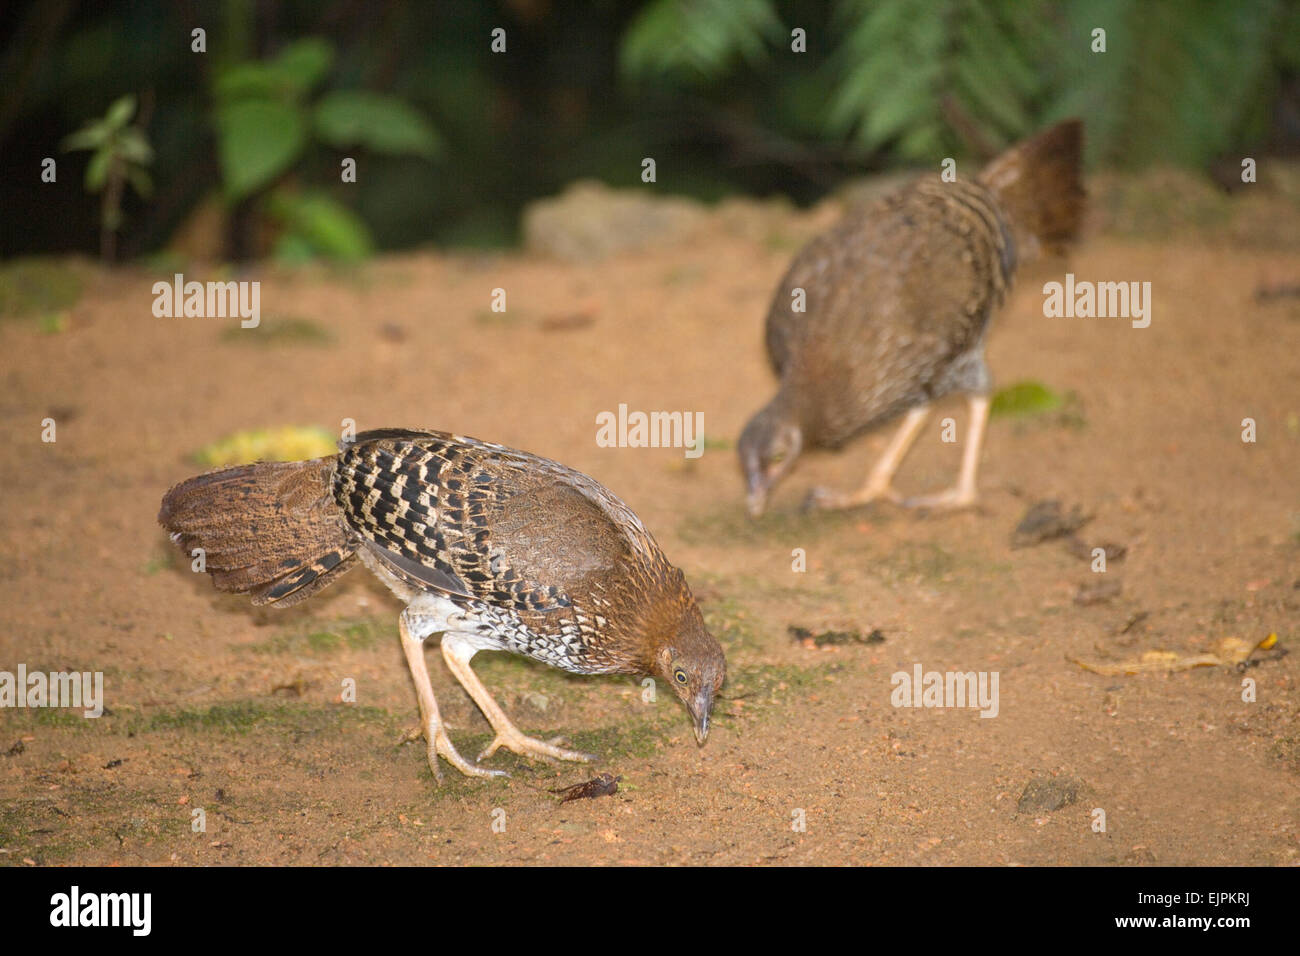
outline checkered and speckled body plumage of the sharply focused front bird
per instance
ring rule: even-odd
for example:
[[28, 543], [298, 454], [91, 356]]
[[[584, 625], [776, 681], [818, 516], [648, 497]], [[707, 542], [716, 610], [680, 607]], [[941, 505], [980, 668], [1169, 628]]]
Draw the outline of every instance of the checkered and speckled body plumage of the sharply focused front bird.
[[629, 626], [660, 602], [694, 607], [641, 519], [545, 458], [439, 432], [363, 433], [338, 458], [333, 496], [402, 600], [445, 596], [485, 641], [554, 667], [649, 671]]

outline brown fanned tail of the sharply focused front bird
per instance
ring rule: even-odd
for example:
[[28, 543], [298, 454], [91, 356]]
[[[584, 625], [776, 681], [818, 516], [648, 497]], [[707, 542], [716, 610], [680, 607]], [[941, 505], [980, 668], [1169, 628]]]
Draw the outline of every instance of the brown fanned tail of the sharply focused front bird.
[[330, 493], [334, 458], [257, 462], [199, 475], [162, 498], [159, 524], [204, 550], [218, 591], [289, 606], [348, 570], [356, 551]]

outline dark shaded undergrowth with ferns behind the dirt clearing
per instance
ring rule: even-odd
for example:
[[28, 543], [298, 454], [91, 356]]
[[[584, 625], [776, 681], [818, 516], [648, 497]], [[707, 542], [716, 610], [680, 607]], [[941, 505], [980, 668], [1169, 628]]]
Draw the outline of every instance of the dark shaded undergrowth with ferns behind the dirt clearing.
[[[118, 255], [162, 248], [220, 199], [214, 75], [304, 36], [335, 48], [322, 90], [394, 94], [442, 142], [434, 159], [359, 151], [358, 186], [315, 144], [280, 178], [355, 209], [378, 248], [510, 245], [530, 199], [581, 177], [640, 185], [642, 156], [664, 193], [809, 203], [862, 172], [984, 157], [1066, 114], [1086, 116], [1093, 166], [1226, 183], [1242, 155], [1300, 142], [1300, 14], [1283, 0], [42, 0], [5, 5], [0, 26], [5, 256], [98, 251], [87, 153], [58, 144], [124, 94], [147, 114], [156, 190], [127, 193]], [[46, 156], [57, 186], [39, 182]], [[226, 207], [231, 258], [259, 252], [264, 199]]]

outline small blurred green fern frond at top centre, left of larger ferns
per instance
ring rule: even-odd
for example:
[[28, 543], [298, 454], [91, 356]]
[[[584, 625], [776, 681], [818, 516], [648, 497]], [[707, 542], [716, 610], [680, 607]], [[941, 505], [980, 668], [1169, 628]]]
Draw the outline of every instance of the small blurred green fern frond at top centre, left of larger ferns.
[[619, 65], [629, 79], [699, 82], [762, 64], [781, 33], [771, 0], [654, 0], [624, 34]]

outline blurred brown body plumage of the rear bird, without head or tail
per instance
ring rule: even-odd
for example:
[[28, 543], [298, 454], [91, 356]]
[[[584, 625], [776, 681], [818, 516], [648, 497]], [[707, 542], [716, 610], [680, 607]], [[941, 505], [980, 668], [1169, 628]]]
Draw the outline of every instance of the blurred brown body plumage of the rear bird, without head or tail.
[[[914, 405], [987, 386], [984, 333], [1014, 269], [993, 195], [937, 177], [809, 243], [767, 317], [768, 356], [805, 442], [840, 447]], [[796, 287], [805, 312], [792, 310]]]

